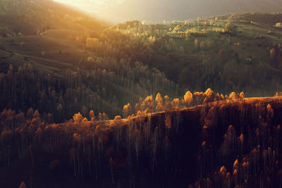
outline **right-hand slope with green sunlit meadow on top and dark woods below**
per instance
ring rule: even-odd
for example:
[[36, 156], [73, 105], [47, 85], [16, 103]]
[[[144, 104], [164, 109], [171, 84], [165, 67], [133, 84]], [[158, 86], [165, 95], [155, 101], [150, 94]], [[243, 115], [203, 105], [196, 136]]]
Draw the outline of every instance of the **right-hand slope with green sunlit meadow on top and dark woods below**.
[[[225, 30], [228, 22], [236, 32]], [[271, 96], [281, 90], [281, 27], [245, 20], [198, 18], [156, 24], [117, 25], [130, 44], [139, 40], [149, 50], [134, 57], [158, 68], [187, 90], [214, 88], [230, 93], [243, 90], [247, 96]], [[271, 54], [272, 50], [272, 54]], [[276, 83], [280, 83], [276, 82]]]

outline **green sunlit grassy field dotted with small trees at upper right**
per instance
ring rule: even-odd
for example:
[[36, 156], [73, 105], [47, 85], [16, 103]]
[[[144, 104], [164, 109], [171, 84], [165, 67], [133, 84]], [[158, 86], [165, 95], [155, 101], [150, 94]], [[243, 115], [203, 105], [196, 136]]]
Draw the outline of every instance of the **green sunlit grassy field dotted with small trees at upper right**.
[[[205, 22], [207, 22], [207, 26], [204, 26]], [[211, 22], [212, 25], [209, 25]], [[269, 51], [263, 46], [264, 44], [267, 45], [271, 42], [278, 44], [282, 42], [282, 30], [280, 27], [240, 20], [233, 21], [238, 27], [238, 35], [232, 37], [230, 35], [220, 35], [219, 32], [224, 29], [224, 26], [228, 22], [229, 20], [192, 20], [186, 25], [185, 22], [175, 22], [157, 25], [157, 28], [159, 30], [168, 31], [169, 28], [173, 29], [177, 27], [177, 25], [180, 25], [181, 34], [168, 32], [167, 35], [169, 37], [175, 37], [178, 46], [183, 46], [185, 51], [195, 50], [195, 39], [197, 39], [199, 44], [202, 41], [211, 40], [214, 46], [212, 46], [211, 50], [202, 51], [203, 54], [207, 54], [210, 51], [219, 51], [219, 49], [224, 47], [225, 49], [237, 51], [245, 58], [247, 58], [247, 56], [255, 56], [259, 58], [261, 62], [267, 62], [267, 56], [269, 55]], [[188, 37], [185, 37], [183, 32], [188, 32]], [[178, 37], [179, 35], [181, 37]], [[259, 35], [262, 35], [262, 37], [259, 38]], [[257, 38], [255, 38], [255, 36], [257, 36]], [[262, 47], [260, 47], [259, 44]]]

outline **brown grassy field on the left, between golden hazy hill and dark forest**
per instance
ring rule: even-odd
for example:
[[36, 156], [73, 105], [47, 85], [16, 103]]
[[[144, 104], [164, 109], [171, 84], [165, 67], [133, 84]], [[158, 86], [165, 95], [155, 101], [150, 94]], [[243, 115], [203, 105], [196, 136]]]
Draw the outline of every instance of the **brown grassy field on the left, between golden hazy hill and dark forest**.
[[[73, 37], [63, 38], [68, 36], [68, 32], [51, 30], [44, 36], [31, 35], [0, 39], [0, 44], [5, 47], [2, 53], [10, 56], [5, 59], [5, 62], [32, 63], [35, 67], [41, 65], [40, 70], [44, 70], [44, 66], [46, 69], [62, 70], [72, 68], [73, 64], [77, 64], [82, 58], [94, 55], [94, 52], [83, 50], [83, 45], [75, 42], [74, 36], [77, 33], [71, 31]], [[13, 51], [12, 56], [10, 51]]]

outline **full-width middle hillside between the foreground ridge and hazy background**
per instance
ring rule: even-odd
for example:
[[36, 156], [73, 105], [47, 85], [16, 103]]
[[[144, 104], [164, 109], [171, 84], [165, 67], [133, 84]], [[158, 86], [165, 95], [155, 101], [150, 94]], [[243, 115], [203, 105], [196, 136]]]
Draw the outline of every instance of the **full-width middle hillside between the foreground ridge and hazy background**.
[[[282, 30], [251, 21], [228, 17], [156, 24], [132, 21], [109, 27], [98, 37], [89, 29], [68, 27], [3, 37], [1, 109], [26, 112], [32, 107], [53, 114], [59, 123], [92, 109], [96, 115], [114, 118], [125, 104], [135, 105], [140, 97], [159, 92], [172, 99], [187, 90], [207, 88], [223, 94], [273, 96], [282, 90]], [[226, 28], [229, 22], [233, 33]], [[33, 76], [21, 73], [22, 68]], [[6, 87], [6, 80], [20, 85]]]

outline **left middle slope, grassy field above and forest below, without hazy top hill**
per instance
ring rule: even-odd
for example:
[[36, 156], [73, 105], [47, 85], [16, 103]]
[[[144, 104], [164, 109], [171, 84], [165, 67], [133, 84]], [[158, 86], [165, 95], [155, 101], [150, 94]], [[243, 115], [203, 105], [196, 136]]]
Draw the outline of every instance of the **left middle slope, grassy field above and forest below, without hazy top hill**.
[[[87, 48], [85, 38], [83, 32], [73, 30], [48, 30], [40, 35], [1, 38], [1, 73], [8, 75], [11, 65], [14, 75], [8, 80], [13, 84], [23, 80], [20, 67], [31, 66], [27, 68], [32, 72], [28, 73], [32, 75], [31, 80], [27, 76], [29, 81], [25, 80], [20, 85], [27, 88], [30, 87], [29, 82], [38, 83], [37, 87], [26, 92], [21, 89], [16, 91], [17, 96], [25, 96], [16, 97], [18, 102], [13, 104], [8, 102], [11, 101], [8, 88], [3, 87], [1, 92], [6, 97], [2, 98], [1, 108], [27, 111], [32, 107], [54, 113], [61, 104], [63, 114], [57, 116], [59, 113], [54, 113], [56, 121], [69, 119], [78, 111], [86, 115], [91, 109], [97, 114], [101, 112], [114, 117], [122, 113], [124, 104], [136, 104], [141, 96], [159, 91], [175, 96], [178, 92], [176, 84], [167, 80], [159, 70], [149, 69], [142, 63], [130, 65], [111, 56], [102, 57], [100, 52], [103, 49], [94, 51]], [[4, 80], [2, 86], [5, 85]], [[39, 92], [48, 90], [56, 97], [47, 99], [50, 100], [47, 104], [38, 104]], [[33, 100], [25, 100], [25, 97]]]

